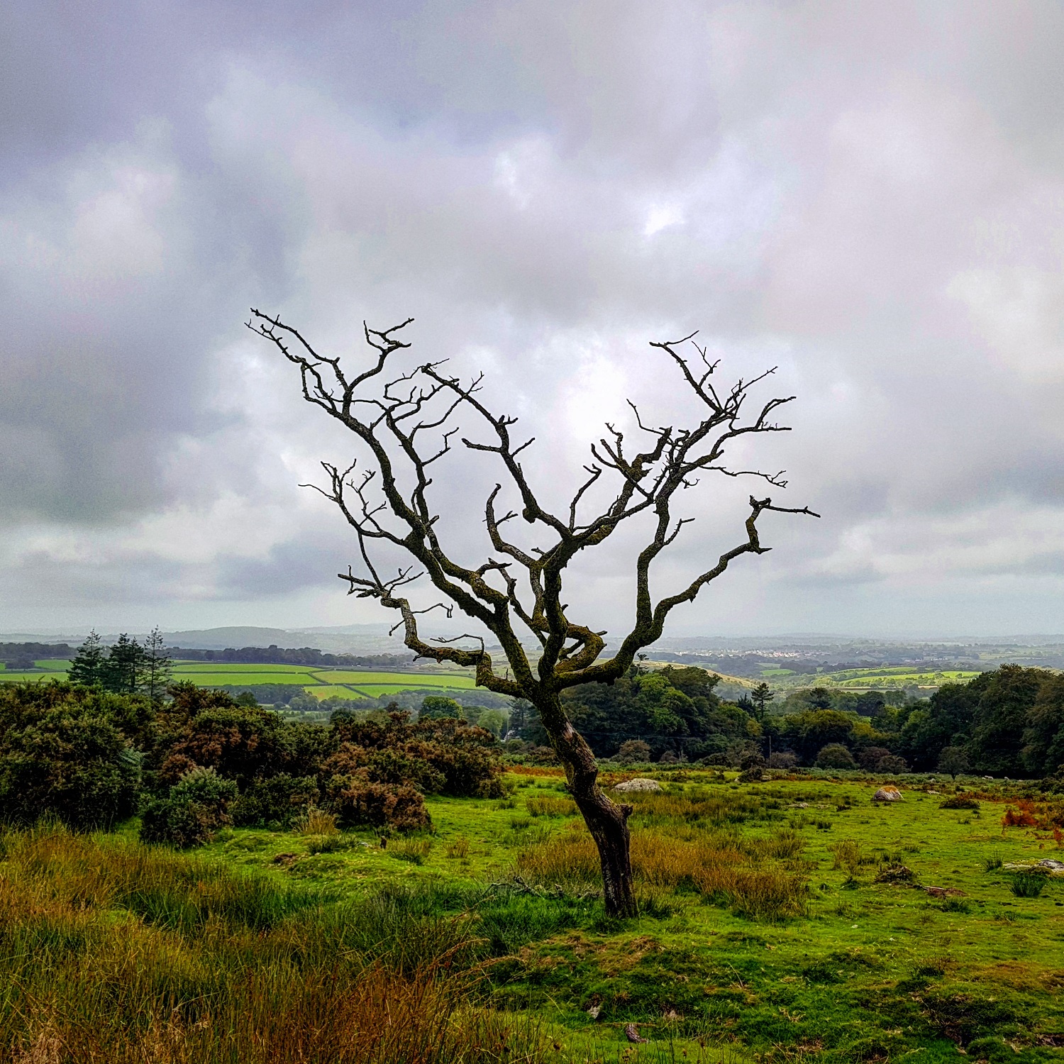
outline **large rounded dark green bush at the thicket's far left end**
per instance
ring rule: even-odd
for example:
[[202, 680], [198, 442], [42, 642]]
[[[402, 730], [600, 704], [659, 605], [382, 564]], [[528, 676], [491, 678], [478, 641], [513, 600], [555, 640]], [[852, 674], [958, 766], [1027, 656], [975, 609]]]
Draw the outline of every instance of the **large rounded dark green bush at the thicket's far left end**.
[[131, 701], [67, 684], [0, 685], [0, 817], [50, 814], [87, 829], [131, 816], [140, 778], [123, 734]]

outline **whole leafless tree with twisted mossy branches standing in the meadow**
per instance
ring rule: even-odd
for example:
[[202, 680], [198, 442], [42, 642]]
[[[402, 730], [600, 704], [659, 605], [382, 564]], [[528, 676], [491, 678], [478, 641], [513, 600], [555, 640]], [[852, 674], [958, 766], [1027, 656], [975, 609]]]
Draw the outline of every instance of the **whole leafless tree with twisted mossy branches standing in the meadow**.
[[[442, 362], [405, 372], [393, 369], [399, 352], [411, 346], [400, 336], [412, 318], [383, 332], [363, 326], [371, 353], [368, 363], [353, 371], [343, 367], [339, 358], [319, 354], [280, 318], [256, 310], [251, 314], [248, 328], [273, 343], [299, 368], [303, 398], [353, 432], [368, 450], [369, 461], [363, 468], [358, 467], [358, 460], [346, 469], [322, 463], [329, 481], [319, 491], [339, 508], [359, 545], [359, 572], [349, 567], [339, 573], [349, 593], [375, 598], [398, 611], [401, 619], [396, 627], [402, 627], [404, 642], [417, 656], [473, 668], [478, 685], [535, 705], [598, 846], [606, 912], [634, 913], [628, 829], [632, 808], [611, 801], [598, 786], [595, 755], [569, 721], [562, 692], [581, 683], [613, 683], [628, 671], [639, 650], [661, 637], [665, 619], [676, 606], [694, 601], [699, 591], [739, 555], [765, 553], [769, 548], [761, 545], [758, 534], [763, 513], [818, 516], [805, 506], [774, 506], [770, 499], [750, 496], [746, 534], [737, 546], [725, 551], [715, 565], [698, 573], [682, 591], [656, 601], [651, 594], [651, 565], [691, 520], [674, 515], [677, 492], [693, 487], [710, 472], [752, 476], [785, 486], [782, 473], [729, 469], [724, 456], [734, 439], [788, 431], [771, 418], [794, 397], [769, 399], [745, 416], [743, 408], [751, 387], [774, 370], [718, 389], [714, 379], [717, 363], [694, 344], [695, 334], [651, 344], [678, 367], [685, 386], [701, 404], [700, 419], [687, 428], [653, 428], [643, 422], [630, 403], [646, 440], [643, 449], [629, 453], [624, 434], [608, 425], [604, 437], [592, 447], [592, 462], [584, 467], [586, 479], [569, 501], [567, 513], [559, 516], [541, 504], [518, 460], [532, 439], [515, 444], [511, 429], [517, 419], [493, 414], [478, 398], [482, 375], [463, 384], [446, 372]], [[696, 352], [689, 358], [679, 350], [688, 340]], [[505, 479], [520, 497], [519, 514], [513, 510], [500, 513], [497, 503], [502, 485], [496, 484], [488, 494], [484, 520], [499, 556], [488, 556], [476, 568], [459, 564], [440, 543], [438, 515], [429, 501], [431, 467], [451, 450], [460, 431], [454, 421], [462, 412], [472, 413], [486, 432], [482, 439], [460, 437], [462, 444], [497, 455]], [[615, 491], [609, 493], [612, 501], [599, 513], [582, 514], [589, 491], [603, 477], [615, 479]], [[563, 573], [578, 551], [601, 545], [621, 523], [639, 515], [649, 519], [653, 533], [635, 563], [634, 621], [612, 655], [603, 659], [605, 633], [568, 617]], [[538, 527], [547, 542], [528, 550], [512, 542], [504, 526], [517, 516]], [[383, 544], [405, 551], [416, 564], [400, 567], [393, 577], [382, 576], [373, 548]], [[421, 571], [416, 571], [417, 566]], [[414, 609], [404, 588], [423, 575], [447, 599], [429, 609], [443, 606], [450, 616], [458, 606], [479, 621], [502, 648], [509, 666], [504, 675], [496, 671], [483, 641], [476, 636], [472, 642], [480, 645], [473, 649], [450, 645], [458, 639], [427, 643], [419, 636], [418, 616], [429, 611]], [[518, 625], [538, 644], [538, 656], [522, 645]]]

